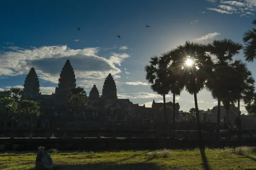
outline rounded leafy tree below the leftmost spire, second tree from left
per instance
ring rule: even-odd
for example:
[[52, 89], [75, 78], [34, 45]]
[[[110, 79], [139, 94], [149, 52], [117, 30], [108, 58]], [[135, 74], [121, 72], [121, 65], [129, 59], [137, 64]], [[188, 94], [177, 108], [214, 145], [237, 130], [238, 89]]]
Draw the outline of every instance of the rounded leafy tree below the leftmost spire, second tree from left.
[[18, 105], [18, 122], [23, 125], [26, 120], [34, 125], [40, 111], [38, 103], [33, 100], [21, 100]]

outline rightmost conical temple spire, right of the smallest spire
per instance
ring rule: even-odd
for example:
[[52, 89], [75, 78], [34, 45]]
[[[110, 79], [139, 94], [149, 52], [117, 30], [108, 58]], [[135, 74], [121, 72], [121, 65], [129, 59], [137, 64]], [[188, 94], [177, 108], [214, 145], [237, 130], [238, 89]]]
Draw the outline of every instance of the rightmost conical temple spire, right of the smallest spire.
[[116, 95], [116, 83], [111, 76], [111, 74], [108, 74], [108, 77], [105, 79], [103, 88], [102, 88], [102, 97], [107, 98], [109, 96], [114, 96], [117, 98]]

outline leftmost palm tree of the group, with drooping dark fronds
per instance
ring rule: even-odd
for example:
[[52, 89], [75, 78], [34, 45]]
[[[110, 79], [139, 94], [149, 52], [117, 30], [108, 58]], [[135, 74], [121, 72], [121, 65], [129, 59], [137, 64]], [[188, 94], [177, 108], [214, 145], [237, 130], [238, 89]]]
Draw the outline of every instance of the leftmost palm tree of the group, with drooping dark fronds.
[[[163, 54], [164, 55], [164, 54]], [[163, 96], [163, 109], [168, 127], [168, 119], [166, 114], [166, 95], [170, 91], [170, 85], [168, 82], [168, 62], [165, 57], [151, 57], [149, 61], [150, 65], [145, 66], [146, 76], [145, 79], [151, 84], [150, 88]]]

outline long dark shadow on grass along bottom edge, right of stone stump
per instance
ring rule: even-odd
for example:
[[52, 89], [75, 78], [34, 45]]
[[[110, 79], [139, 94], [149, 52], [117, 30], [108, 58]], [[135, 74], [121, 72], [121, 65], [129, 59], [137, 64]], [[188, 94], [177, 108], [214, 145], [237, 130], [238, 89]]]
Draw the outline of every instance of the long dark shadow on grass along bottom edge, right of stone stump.
[[[102, 162], [95, 164], [56, 165], [52, 170], [162, 170], [153, 163], [116, 164], [115, 162]], [[35, 170], [30, 168], [29, 170]]]

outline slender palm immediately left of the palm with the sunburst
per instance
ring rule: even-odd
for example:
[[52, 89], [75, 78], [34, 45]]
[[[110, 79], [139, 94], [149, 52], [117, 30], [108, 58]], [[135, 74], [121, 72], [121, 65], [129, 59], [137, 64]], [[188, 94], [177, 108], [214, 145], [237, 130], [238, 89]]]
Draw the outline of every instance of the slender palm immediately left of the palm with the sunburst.
[[181, 81], [181, 70], [179, 67], [179, 64], [177, 60], [175, 60], [175, 57], [178, 53], [177, 50], [173, 49], [171, 51], [168, 51], [167, 53], [162, 54], [161, 57], [166, 58], [166, 62], [168, 63], [168, 81], [170, 85], [170, 91], [172, 93], [172, 122], [173, 122], [173, 130], [175, 130], [175, 96], [179, 96], [181, 91], [184, 89], [184, 84]]

